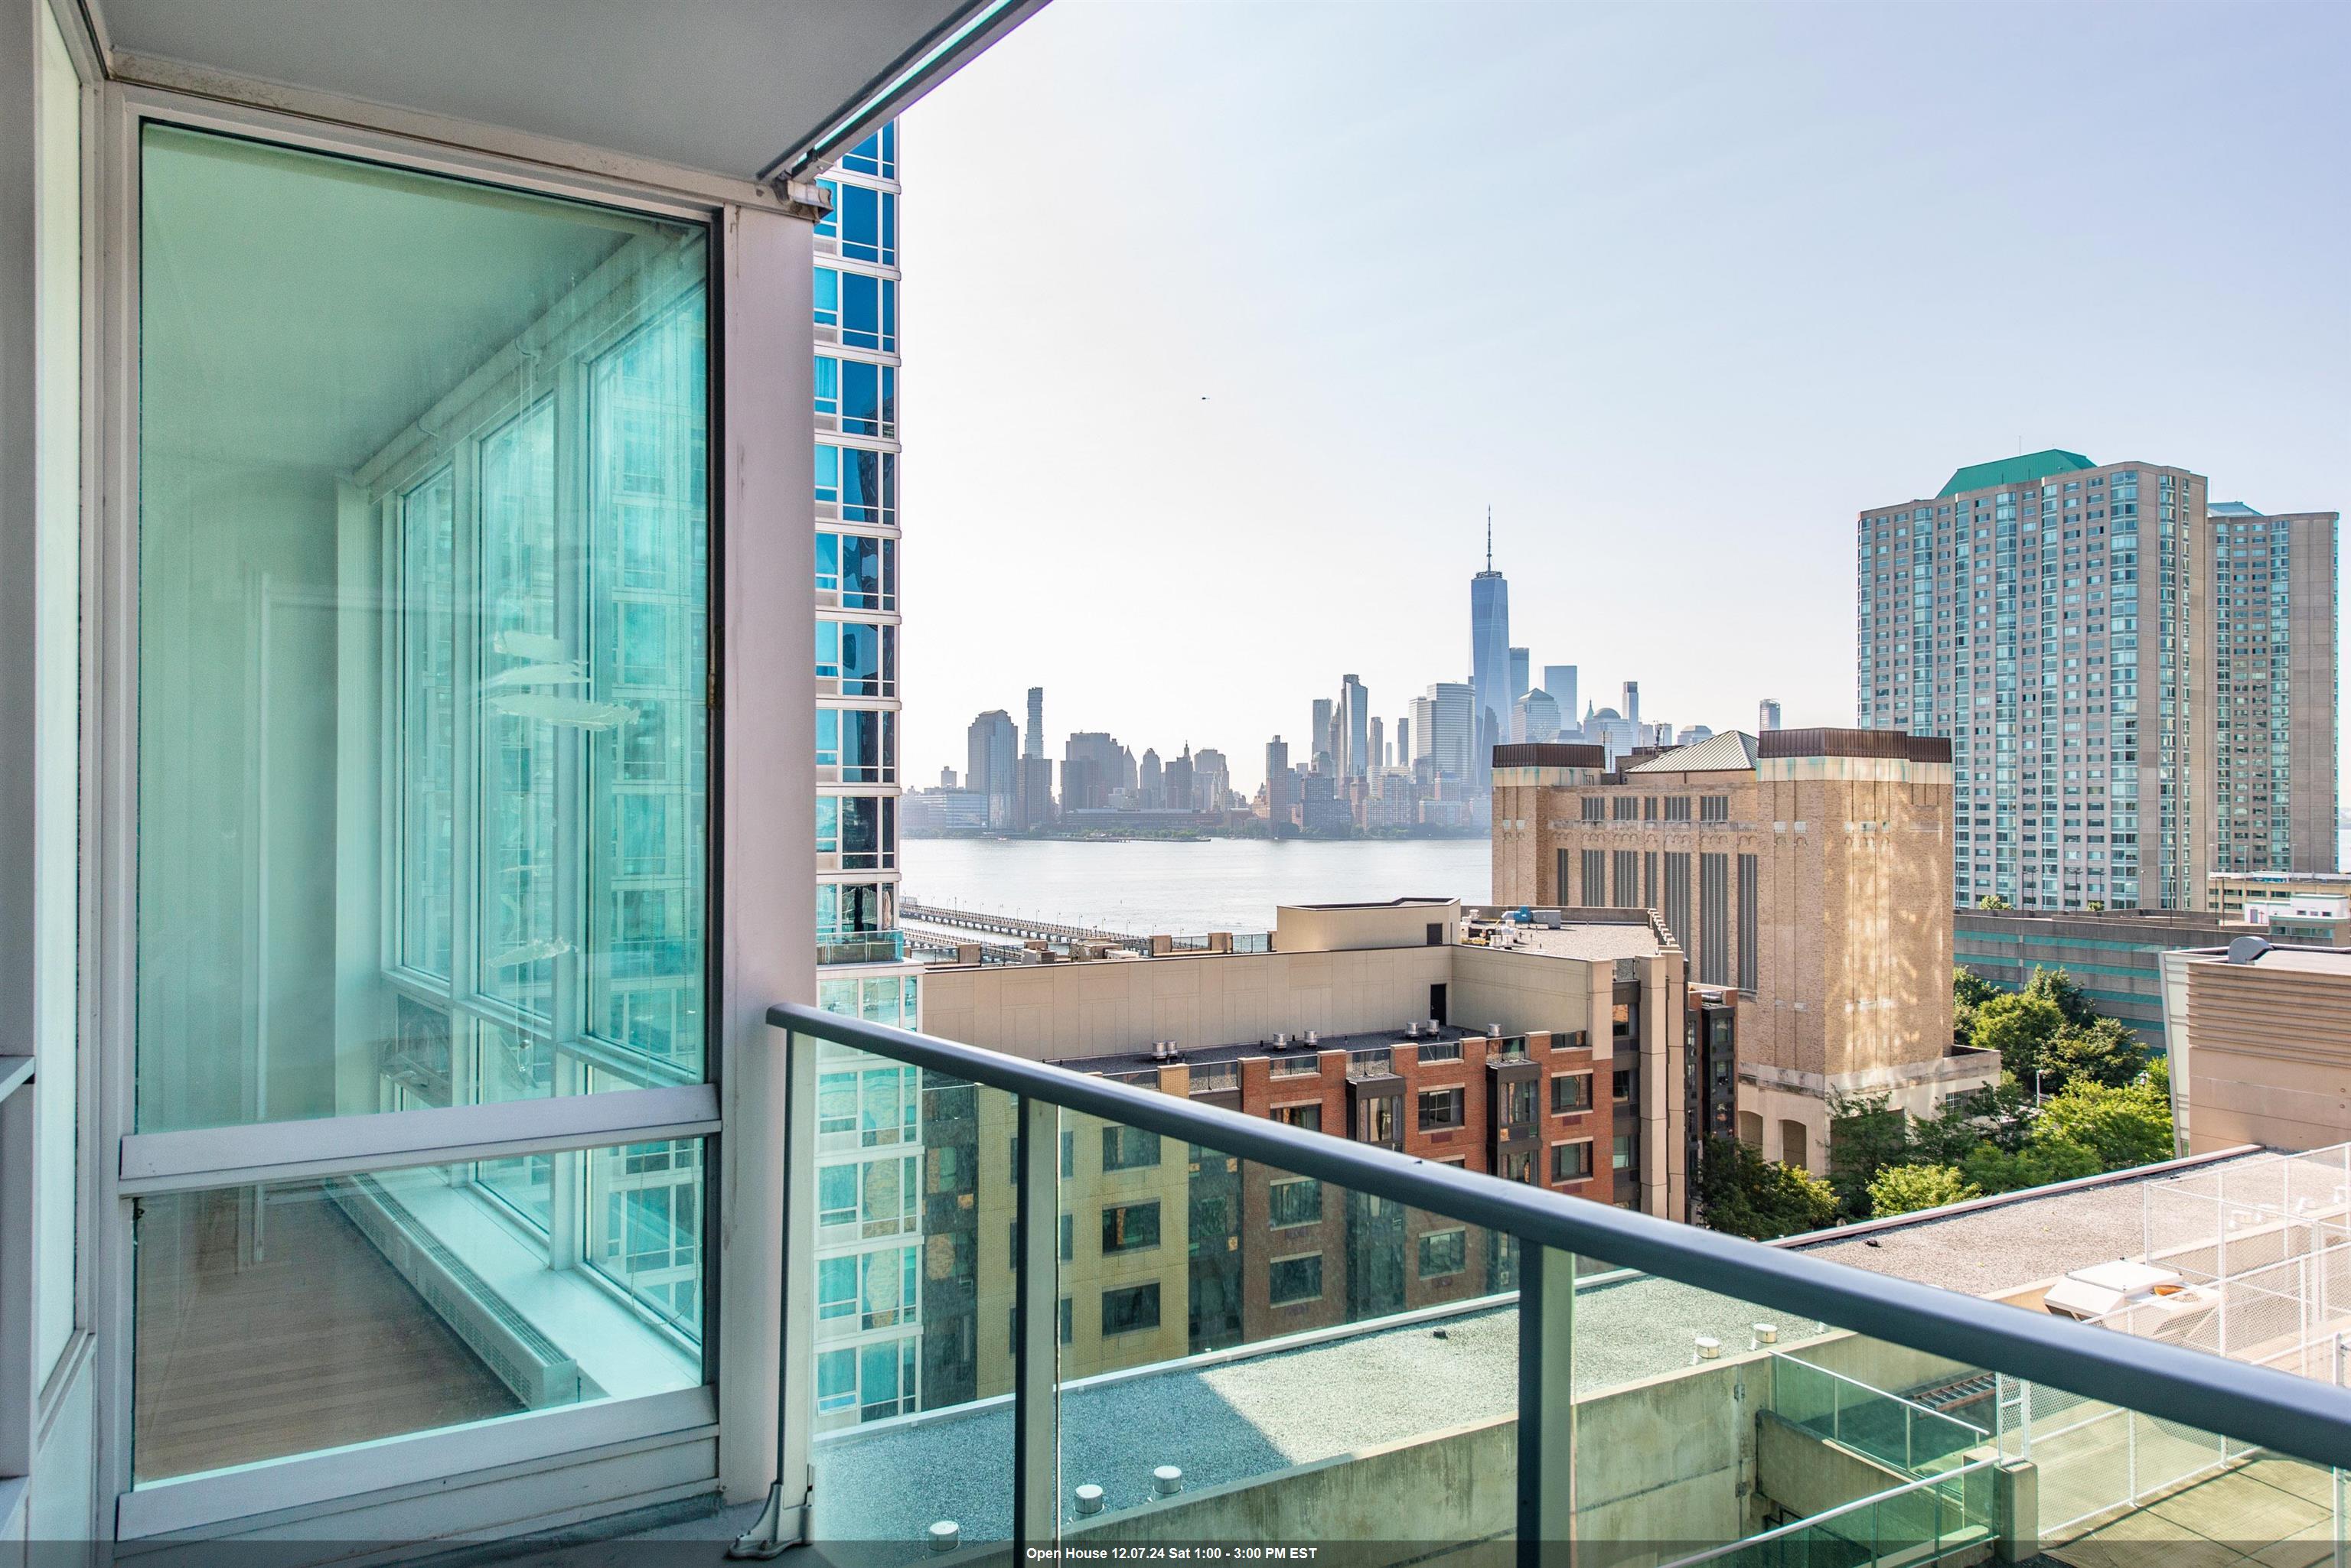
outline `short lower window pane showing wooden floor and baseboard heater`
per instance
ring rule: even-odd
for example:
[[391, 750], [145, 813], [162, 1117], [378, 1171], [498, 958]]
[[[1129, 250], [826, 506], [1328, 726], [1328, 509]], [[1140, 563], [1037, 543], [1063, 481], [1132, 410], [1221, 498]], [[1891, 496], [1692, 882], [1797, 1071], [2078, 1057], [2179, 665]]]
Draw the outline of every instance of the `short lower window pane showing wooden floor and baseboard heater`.
[[698, 1385], [701, 1143], [498, 1164], [141, 1199], [134, 1481]]

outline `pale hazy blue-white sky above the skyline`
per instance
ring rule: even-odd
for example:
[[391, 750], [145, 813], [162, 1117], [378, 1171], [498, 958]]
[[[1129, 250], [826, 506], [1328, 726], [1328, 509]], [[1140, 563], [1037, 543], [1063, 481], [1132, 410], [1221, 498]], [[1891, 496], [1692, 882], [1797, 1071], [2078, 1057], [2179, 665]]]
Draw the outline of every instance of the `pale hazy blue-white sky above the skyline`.
[[[1512, 642], [1853, 722], [1853, 517], [2351, 501], [2351, 5], [1058, 0], [905, 120], [910, 778], [1293, 757]], [[1608, 701], [1606, 696], [1601, 701]]]

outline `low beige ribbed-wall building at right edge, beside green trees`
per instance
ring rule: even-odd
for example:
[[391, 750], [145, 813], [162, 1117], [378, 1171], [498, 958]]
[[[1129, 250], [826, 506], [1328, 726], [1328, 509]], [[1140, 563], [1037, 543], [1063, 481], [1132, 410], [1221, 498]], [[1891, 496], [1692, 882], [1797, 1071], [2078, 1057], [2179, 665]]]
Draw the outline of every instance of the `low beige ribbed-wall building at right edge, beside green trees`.
[[2163, 1044], [2182, 1152], [2351, 1140], [2351, 950], [2165, 952]]

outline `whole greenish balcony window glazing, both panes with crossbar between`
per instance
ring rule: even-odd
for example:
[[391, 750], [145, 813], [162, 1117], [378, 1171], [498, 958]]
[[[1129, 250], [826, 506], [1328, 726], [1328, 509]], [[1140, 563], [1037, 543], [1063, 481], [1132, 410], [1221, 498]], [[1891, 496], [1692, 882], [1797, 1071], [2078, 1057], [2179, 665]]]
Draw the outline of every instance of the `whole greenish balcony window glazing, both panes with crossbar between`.
[[139, 190], [134, 1483], [696, 1389], [708, 226]]

